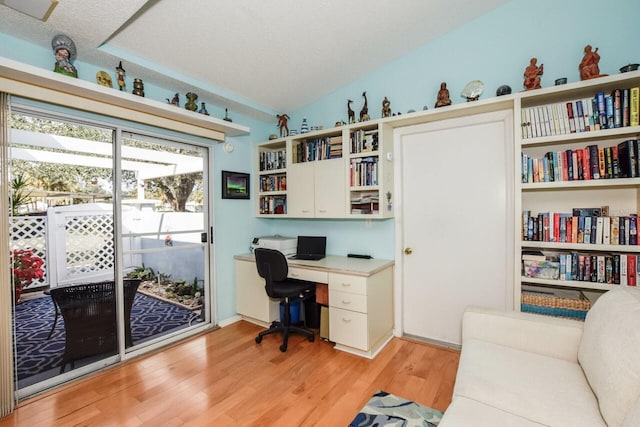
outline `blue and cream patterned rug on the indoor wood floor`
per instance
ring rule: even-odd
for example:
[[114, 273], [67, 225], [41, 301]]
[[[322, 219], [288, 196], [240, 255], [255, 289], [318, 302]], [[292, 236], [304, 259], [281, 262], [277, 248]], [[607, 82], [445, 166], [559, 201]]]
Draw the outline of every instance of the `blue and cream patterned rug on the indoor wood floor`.
[[435, 427], [441, 419], [442, 412], [437, 409], [380, 390], [373, 394], [349, 427]]

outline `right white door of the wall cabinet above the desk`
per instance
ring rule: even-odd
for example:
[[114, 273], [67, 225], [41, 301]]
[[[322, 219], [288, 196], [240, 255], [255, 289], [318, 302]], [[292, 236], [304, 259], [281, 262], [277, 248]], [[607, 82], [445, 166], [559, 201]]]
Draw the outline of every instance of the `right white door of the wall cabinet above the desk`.
[[316, 218], [343, 218], [347, 214], [344, 160], [315, 162]]

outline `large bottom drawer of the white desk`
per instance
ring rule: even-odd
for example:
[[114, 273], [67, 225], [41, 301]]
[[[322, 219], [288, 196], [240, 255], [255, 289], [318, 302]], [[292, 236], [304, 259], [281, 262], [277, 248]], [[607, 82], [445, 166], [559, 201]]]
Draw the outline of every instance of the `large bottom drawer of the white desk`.
[[329, 308], [329, 339], [360, 350], [369, 350], [367, 315]]

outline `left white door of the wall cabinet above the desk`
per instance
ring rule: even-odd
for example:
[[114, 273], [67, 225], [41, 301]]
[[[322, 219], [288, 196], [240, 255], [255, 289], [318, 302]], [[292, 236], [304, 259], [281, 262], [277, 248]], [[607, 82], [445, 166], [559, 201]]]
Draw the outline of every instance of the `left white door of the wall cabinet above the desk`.
[[294, 218], [315, 216], [314, 164], [293, 163], [287, 166], [287, 215]]

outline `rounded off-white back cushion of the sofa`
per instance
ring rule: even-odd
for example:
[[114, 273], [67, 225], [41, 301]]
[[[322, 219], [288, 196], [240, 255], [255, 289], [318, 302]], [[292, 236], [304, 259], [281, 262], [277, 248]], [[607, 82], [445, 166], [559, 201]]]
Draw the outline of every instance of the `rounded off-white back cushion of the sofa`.
[[578, 362], [610, 427], [622, 426], [640, 398], [640, 289], [614, 288], [593, 305]]

